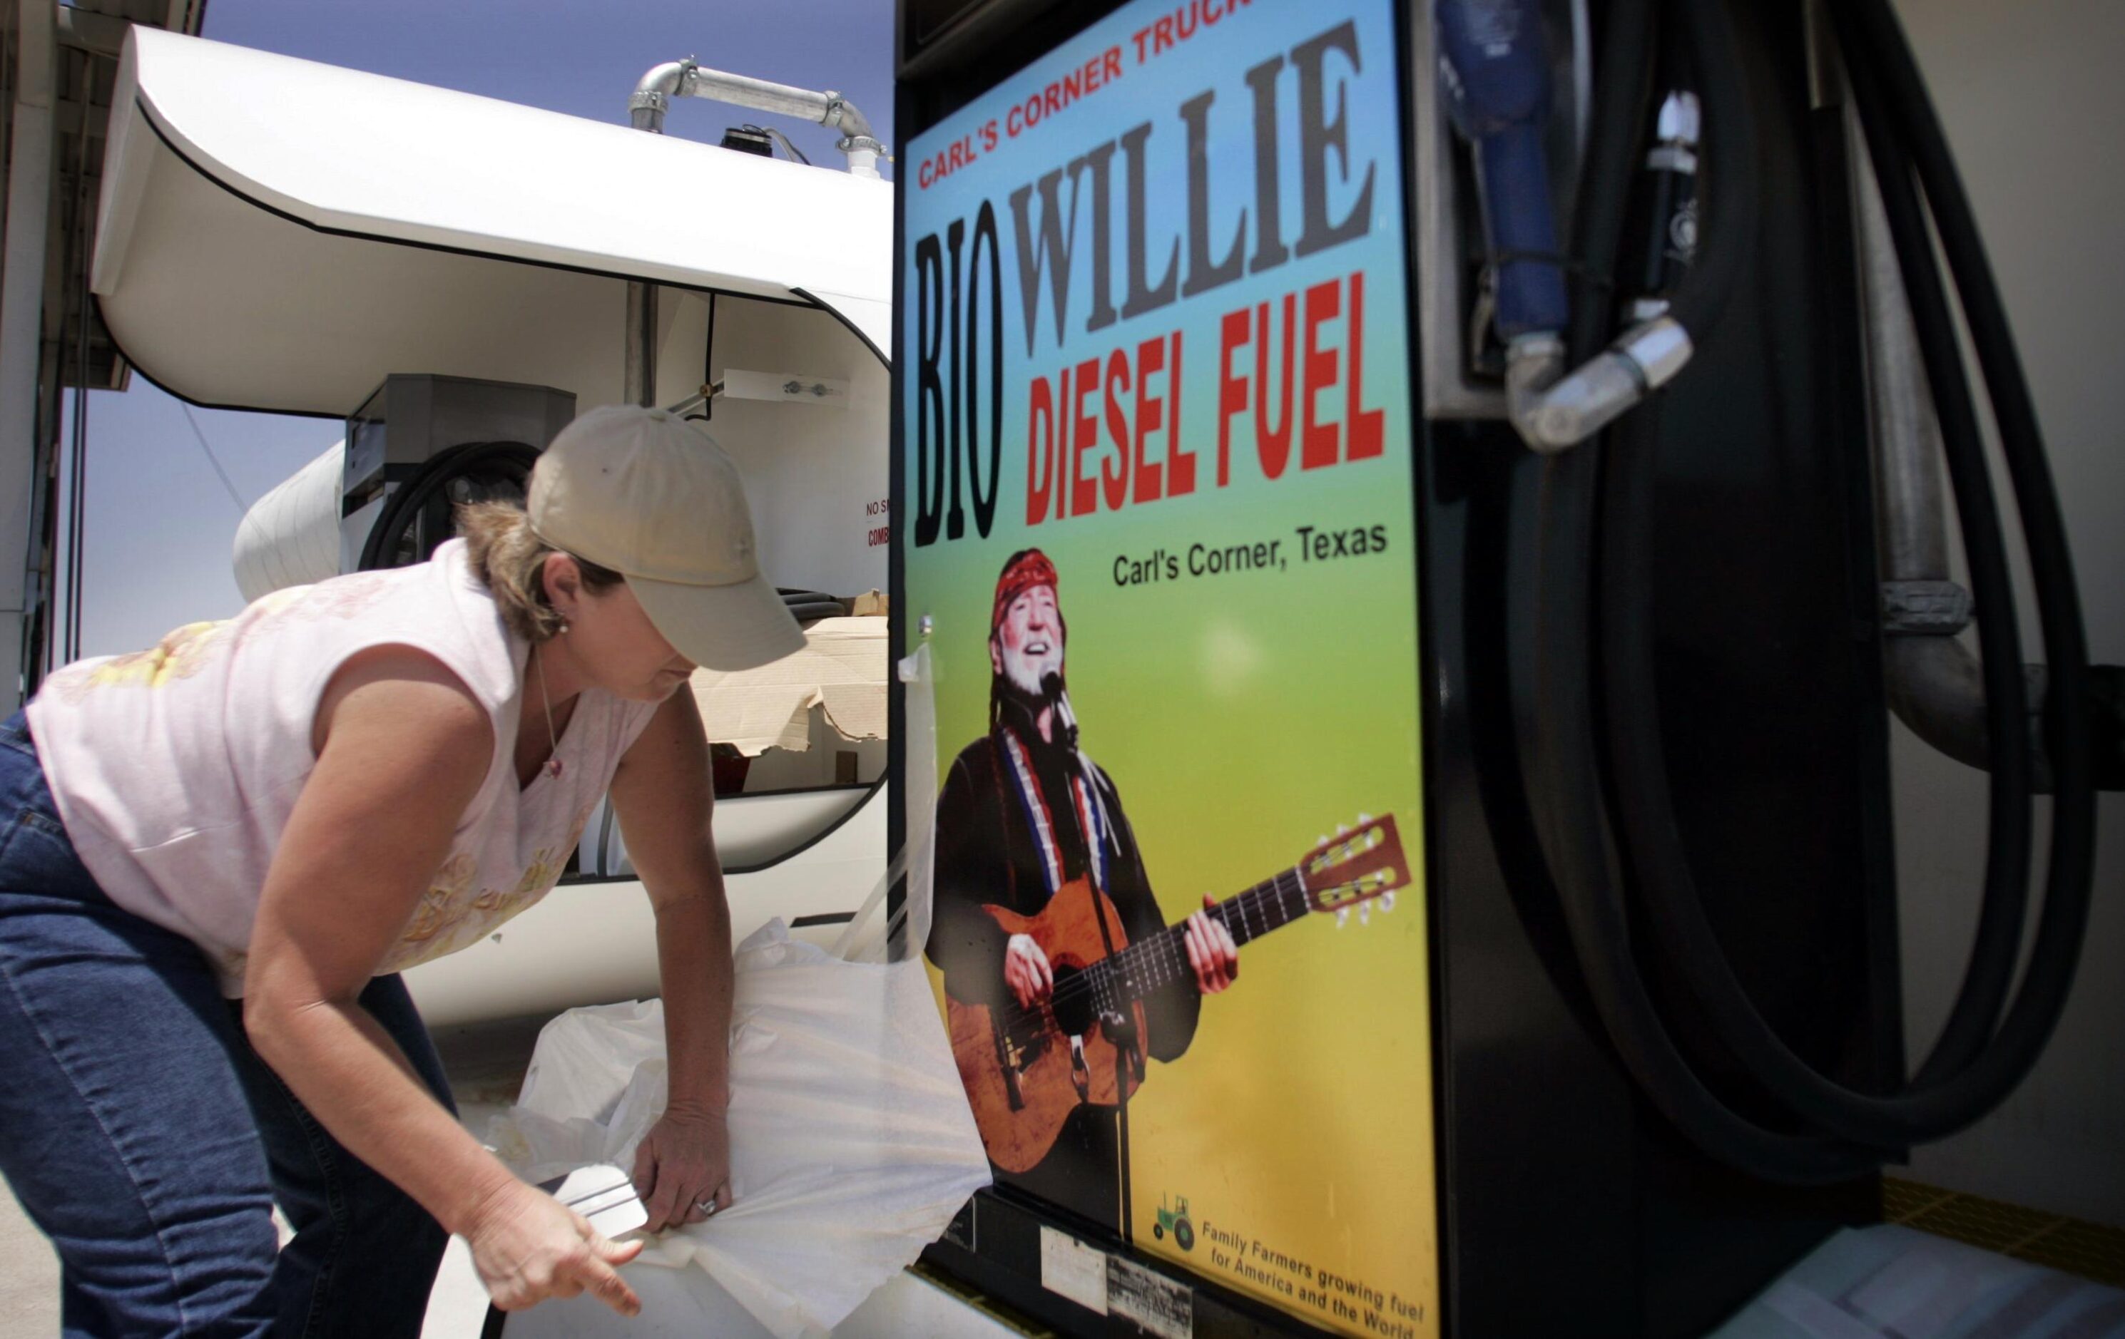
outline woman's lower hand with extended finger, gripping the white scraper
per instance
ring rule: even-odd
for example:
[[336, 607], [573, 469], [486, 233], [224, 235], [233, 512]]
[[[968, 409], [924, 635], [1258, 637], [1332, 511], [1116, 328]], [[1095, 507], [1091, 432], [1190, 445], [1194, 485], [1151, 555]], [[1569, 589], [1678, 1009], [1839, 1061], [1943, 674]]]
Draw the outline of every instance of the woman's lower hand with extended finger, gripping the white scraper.
[[606, 1241], [582, 1214], [523, 1182], [482, 1205], [465, 1241], [487, 1294], [504, 1311], [580, 1292], [620, 1316], [642, 1311], [642, 1299], [616, 1269], [642, 1254], [642, 1243]]

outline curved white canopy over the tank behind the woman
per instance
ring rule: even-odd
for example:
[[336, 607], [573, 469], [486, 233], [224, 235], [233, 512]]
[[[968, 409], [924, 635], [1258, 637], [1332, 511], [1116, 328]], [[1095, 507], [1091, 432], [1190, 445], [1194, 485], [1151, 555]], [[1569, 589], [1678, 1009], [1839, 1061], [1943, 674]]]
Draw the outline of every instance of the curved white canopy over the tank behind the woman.
[[890, 338], [890, 183], [142, 28], [98, 223], [104, 321], [200, 404], [344, 414], [391, 372], [610, 404], [627, 281], [691, 289], [661, 304], [663, 404], [699, 387], [674, 332], [708, 293]]

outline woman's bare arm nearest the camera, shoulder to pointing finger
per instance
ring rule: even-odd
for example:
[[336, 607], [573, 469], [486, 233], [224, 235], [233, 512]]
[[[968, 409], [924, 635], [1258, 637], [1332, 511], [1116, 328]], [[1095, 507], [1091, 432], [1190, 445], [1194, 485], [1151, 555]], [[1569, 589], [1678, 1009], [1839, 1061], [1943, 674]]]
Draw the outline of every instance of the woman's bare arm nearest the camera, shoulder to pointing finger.
[[474, 1248], [495, 1301], [584, 1288], [633, 1313], [616, 1248], [518, 1182], [436, 1103], [357, 1003], [448, 857], [495, 752], [472, 693], [434, 657], [385, 646], [325, 689], [319, 757], [266, 874], [244, 973], [259, 1056], [355, 1156]]

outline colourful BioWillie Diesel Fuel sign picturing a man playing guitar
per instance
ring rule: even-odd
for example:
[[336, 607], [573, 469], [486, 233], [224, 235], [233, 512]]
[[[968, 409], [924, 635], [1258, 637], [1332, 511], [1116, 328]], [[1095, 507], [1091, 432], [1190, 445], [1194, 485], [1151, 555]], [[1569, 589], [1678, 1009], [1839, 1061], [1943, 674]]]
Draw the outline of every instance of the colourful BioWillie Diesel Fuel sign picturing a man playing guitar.
[[1439, 1330], [1400, 125], [1390, 4], [1164, 0], [901, 157], [929, 961], [997, 1180], [1349, 1335]]

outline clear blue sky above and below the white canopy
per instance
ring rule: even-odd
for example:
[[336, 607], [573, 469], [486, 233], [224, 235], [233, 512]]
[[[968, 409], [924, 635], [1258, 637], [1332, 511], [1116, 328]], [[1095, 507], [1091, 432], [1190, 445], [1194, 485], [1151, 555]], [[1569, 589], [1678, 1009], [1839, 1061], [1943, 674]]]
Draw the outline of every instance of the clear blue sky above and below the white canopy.
[[[618, 123], [644, 70], [693, 55], [839, 89], [892, 142], [890, 0], [210, 0], [204, 36]], [[746, 119], [767, 121], [680, 102], [665, 132], [714, 142]], [[831, 132], [774, 123], [814, 162], [839, 162]], [[136, 650], [178, 623], [240, 610], [230, 544], [242, 508], [340, 438], [327, 419], [191, 417], [227, 487], [185, 406], [142, 376], [130, 391], [89, 395], [83, 655]]]

